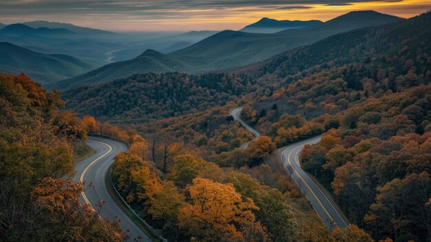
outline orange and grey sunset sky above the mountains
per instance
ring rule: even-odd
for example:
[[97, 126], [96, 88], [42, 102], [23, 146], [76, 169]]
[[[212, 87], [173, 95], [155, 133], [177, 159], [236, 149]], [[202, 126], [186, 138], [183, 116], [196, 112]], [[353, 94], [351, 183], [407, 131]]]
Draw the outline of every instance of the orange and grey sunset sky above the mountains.
[[431, 0], [1, 0], [0, 22], [47, 20], [117, 32], [238, 30], [262, 17], [326, 21], [352, 10], [412, 17]]

